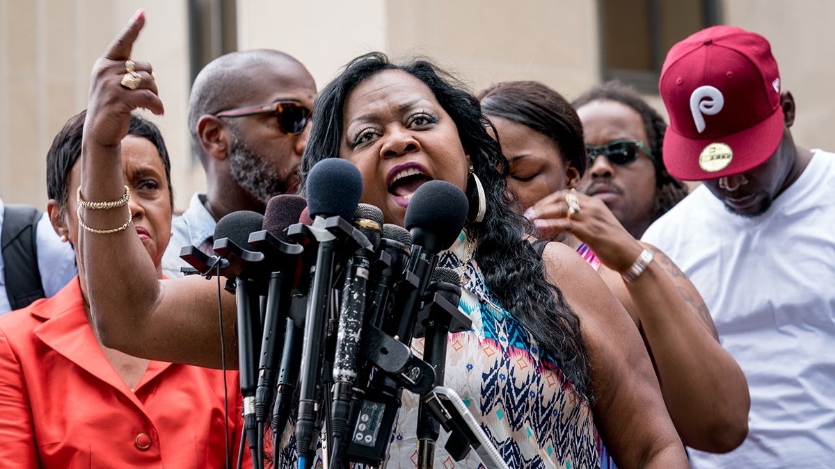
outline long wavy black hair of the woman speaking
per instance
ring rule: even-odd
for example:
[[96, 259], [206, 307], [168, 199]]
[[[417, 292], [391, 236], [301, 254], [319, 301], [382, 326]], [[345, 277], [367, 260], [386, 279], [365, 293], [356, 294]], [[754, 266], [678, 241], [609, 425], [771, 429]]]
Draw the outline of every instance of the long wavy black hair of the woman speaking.
[[348, 63], [342, 73], [316, 97], [310, 139], [301, 159], [301, 188], [314, 164], [338, 158], [342, 142], [344, 106], [354, 88], [386, 70], [400, 70], [426, 83], [438, 103], [458, 127], [463, 149], [487, 195], [483, 222], [468, 224], [479, 243], [475, 259], [483, 268], [492, 295], [556, 361], [581, 395], [591, 397], [589, 357], [583, 345], [579, 318], [562, 291], [545, 278], [541, 257], [525, 240], [532, 226], [513, 209], [506, 190], [509, 172], [498, 142], [488, 134], [489, 121], [472, 93], [458, 79], [423, 59], [397, 65], [383, 53], [367, 53]]

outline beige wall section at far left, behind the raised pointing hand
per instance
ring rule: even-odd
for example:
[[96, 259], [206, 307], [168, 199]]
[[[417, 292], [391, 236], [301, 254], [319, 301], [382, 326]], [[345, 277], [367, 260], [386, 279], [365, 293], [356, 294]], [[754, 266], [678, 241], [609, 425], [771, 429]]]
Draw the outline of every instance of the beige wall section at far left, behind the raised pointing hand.
[[164, 134], [175, 188], [195, 185], [190, 159], [183, 158], [190, 151], [185, 129], [190, 86], [185, 2], [0, 0], [4, 202], [46, 209], [46, 154], [53, 137], [67, 119], [87, 107], [93, 63], [140, 6], [148, 22], [133, 57], [154, 65], [166, 110], [164, 117], [147, 114]]

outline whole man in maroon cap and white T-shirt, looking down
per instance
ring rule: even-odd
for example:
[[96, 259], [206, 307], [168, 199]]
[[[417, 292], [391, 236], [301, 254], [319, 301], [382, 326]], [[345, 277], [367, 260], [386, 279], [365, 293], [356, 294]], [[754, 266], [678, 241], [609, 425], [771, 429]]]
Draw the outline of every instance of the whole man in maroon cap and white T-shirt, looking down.
[[[702, 181], [642, 240], [687, 275], [751, 391], [749, 433], [696, 467], [822, 467], [835, 454], [835, 154], [789, 130], [792, 93], [759, 34], [717, 26], [667, 54], [663, 155]], [[721, 383], [716, 383], [721, 386]]]

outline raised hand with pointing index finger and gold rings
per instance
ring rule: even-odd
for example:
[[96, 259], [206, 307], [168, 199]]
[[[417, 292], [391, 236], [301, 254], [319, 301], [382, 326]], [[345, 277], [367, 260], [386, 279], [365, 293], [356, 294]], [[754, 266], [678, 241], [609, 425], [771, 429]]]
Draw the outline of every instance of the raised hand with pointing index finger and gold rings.
[[[134, 74], [129, 73], [127, 61], [144, 22], [144, 10], [139, 9], [93, 66], [87, 121], [84, 123], [88, 142], [104, 147], [119, 144], [128, 134], [130, 112], [135, 108], [164, 113], [150, 63], [134, 61]], [[139, 78], [136, 89], [122, 84], [126, 74]]]

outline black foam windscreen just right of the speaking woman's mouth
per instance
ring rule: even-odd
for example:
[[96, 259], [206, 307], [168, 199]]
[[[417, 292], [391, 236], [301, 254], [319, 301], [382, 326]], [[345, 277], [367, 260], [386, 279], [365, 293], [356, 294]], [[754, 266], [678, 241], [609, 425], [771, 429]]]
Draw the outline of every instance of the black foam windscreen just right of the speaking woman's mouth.
[[[415, 245], [424, 245], [417, 235], [431, 233], [434, 246], [424, 246], [438, 253], [453, 245], [467, 219], [469, 202], [467, 196], [455, 184], [433, 180], [422, 184], [412, 195], [406, 209], [406, 229], [412, 231]], [[416, 235], [417, 234], [417, 235]]]

